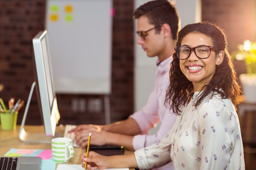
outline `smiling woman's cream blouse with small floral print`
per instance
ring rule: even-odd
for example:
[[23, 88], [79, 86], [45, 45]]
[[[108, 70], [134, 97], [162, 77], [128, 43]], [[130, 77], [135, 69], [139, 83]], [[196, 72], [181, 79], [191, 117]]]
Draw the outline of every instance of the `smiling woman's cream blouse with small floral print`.
[[135, 151], [140, 170], [170, 161], [174, 170], [245, 170], [240, 124], [231, 100], [217, 94], [195, 108], [198, 94], [159, 143]]

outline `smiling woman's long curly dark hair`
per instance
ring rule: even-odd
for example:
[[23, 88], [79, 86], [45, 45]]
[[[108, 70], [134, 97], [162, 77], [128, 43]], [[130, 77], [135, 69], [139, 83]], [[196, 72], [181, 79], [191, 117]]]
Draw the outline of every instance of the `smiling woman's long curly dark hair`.
[[[211, 38], [216, 54], [224, 51], [224, 60], [220, 65], [216, 65], [216, 71], [209, 82], [205, 85], [204, 91], [197, 97], [195, 108], [203, 101], [205, 97], [214, 93], [221, 95], [222, 99], [231, 99], [236, 109], [239, 104], [239, 95], [241, 87], [238, 84], [238, 78], [234, 69], [234, 64], [227, 49], [227, 36], [223, 29], [210, 22], [200, 22], [184, 26], [178, 33], [176, 46], [181, 46], [183, 38], [189, 33], [202, 33]], [[168, 103], [176, 115], [180, 115], [181, 106], [189, 101], [194, 93], [192, 82], [190, 82], [180, 70], [180, 59], [177, 54], [173, 54], [173, 61], [170, 69], [170, 85], [166, 93], [165, 102]], [[202, 89], [203, 89], [202, 88]]]

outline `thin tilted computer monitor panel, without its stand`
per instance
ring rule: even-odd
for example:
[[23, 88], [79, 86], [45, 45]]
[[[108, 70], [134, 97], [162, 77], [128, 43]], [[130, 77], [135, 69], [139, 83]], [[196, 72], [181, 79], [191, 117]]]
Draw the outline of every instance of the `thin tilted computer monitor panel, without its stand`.
[[34, 76], [36, 94], [45, 133], [54, 136], [59, 113], [53, 84], [52, 65], [47, 31], [40, 31], [33, 38]]

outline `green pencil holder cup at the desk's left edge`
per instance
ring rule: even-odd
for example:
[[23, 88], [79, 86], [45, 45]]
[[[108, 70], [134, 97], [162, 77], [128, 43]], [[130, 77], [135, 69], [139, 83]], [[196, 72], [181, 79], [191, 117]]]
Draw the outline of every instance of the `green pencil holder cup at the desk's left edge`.
[[0, 120], [1, 120], [1, 128], [2, 130], [12, 130], [16, 129], [16, 124], [17, 124], [17, 117], [18, 117], [18, 112], [1, 112], [0, 113]]

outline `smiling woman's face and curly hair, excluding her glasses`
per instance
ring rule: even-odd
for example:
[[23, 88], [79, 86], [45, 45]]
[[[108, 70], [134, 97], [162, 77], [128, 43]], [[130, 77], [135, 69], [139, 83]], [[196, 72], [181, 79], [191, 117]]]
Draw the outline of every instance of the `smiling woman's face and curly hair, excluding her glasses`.
[[[198, 26], [198, 28], [196, 28], [196, 26]], [[191, 41], [191, 39], [194, 40]], [[227, 38], [222, 29], [208, 22], [189, 24], [179, 32], [176, 46], [213, 46], [214, 51], [211, 50], [211, 53], [209, 53], [209, 58], [204, 59], [200, 59], [198, 56], [196, 56], [195, 51], [190, 51], [190, 55], [186, 60], [180, 60], [178, 57], [179, 55], [177, 54], [179, 53], [179, 50], [176, 49], [176, 53], [173, 55], [173, 62], [170, 71], [172, 74], [172, 86], [170, 85], [170, 87], [172, 87], [171, 89], [176, 88], [171, 93], [180, 91], [180, 93], [183, 95], [173, 98], [173, 100], [175, 100], [173, 103], [177, 104], [177, 108], [175, 108], [173, 104], [173, 109], [175, 111], [180, 111], [178, 106], [181, 106], [184, 101], [188, 101], [192, 96], [191, 93], [193, 93], [195, 90], [193, 84], [197, 84], [196, 81], [189, 81], [189, 79], [193, 77], [197, 81], [198, 79], [201, 79], [201, 81], [205, 80], [204, 84], [197, 84], [199, 85], [199, 89], [196, 91], [201, 91], [203, 88], [205, 89], [202, 95], [200, 95], [200, 98], [196, 102], [195, 106], [198, 106], [200, 102], [202, 102], [202, 99], [209, 95], [212, 91], [217, 91], [218, 93], [222, 94], [222, 97], [224, 98], [230, 98], [233, 104], [238, 106], [237, 96], [241, 93], [241, 91], [240, 87], [238, 86], [234, 65], [231, 62], [231, 56], [227, 51]], [[190, 70], [189, 68], [193, 70]], [[195, 70], [195, 68], [198, 70]], [[192, 74], [192, 72], [196, 73]], [[209, 77], [208, 80], [203, 79], [202, 76], [207, 78], [207, 74], [209, 76], [211, 75], [212, 78]], [[226, 89], [225, 93], [222, 93], [220, 88], [222, 88], [222, 90]], [[172, 99], [171, 96], [172, 95], [168, 96], [169, 99]]]

